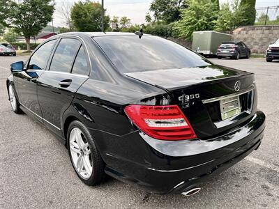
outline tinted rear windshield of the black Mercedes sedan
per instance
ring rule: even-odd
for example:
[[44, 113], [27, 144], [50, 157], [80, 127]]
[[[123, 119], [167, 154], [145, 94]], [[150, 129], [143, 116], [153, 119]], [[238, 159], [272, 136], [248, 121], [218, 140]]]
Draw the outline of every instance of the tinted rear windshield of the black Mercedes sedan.
[[123, 73], [211, 65], [195, 52], [156, 36], [103, 36], [94, 40]]

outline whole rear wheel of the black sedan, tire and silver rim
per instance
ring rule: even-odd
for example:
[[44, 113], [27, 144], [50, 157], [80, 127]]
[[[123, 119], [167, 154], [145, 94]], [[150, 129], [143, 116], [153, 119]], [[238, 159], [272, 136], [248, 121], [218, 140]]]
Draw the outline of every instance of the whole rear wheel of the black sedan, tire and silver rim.
[[70, 162], [77, 176], [86, 185], [100, 184], [105, 176], [105, 163], [89, 130], [80, 121], [70, 123], [67, 144]]

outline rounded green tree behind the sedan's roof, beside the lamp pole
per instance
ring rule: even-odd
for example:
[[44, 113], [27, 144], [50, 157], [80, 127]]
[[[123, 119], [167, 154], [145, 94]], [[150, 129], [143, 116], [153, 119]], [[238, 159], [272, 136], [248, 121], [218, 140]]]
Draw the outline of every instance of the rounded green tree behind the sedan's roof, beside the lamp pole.
[[[70, 18], [73, 20], [77, 31], [102, 31], [101, 14], [102, 6], [100, 3], [89, 0], [85, 2], [78, 1], [70, 11]], [[104, 29], [109, 26], [110, 17], [104, 15]]]

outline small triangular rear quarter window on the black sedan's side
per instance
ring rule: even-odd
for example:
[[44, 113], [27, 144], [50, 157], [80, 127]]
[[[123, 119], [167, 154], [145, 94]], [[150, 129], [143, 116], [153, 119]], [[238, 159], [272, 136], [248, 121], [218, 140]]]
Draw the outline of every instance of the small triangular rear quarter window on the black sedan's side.
[[80, 74], [80, 75], [88, 75], [89, 74], [89, 65], [86, 60], [86, 53], [84, 51], [84, 47], [81, 46], [80, 50], [75, 59], [75, 63], [73, 65], [72, 73]]

